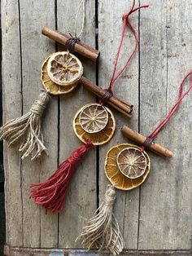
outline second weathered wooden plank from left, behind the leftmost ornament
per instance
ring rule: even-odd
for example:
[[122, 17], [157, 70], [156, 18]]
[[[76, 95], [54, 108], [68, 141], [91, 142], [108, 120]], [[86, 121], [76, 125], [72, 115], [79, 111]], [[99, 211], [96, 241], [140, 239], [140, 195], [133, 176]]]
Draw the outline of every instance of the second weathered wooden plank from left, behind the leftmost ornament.
[[[55, 28], [55, 1], [20, 0], [20, 28], [22, 49], [22, 93], [24, 112], [37, 99], [41, 90], [40, 68], [47, 55], [55, 51], [55, 44], [41, 36], [44, 25]], [[45, 143], [50, 157], [43, 156], [22, 163], [24, 247], [57, 246], [57, 215], [45, 215], [34, 205], [30, 196], [30, 183], [38, 183], [50, 176], [57, 166], [57, 98], [52, 97], [43, 118]]]

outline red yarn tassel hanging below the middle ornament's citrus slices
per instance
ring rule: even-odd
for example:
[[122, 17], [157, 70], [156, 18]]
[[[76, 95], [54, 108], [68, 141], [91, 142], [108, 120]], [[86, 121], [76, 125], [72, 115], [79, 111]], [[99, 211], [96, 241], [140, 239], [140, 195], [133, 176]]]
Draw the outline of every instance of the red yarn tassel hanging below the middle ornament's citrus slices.
[[55, 213], [55, 211], [62, 212], [72, 171], [76, 163], [89, 151], [91, 145], [92, 143], [87, 140], [85, 145], [76, 148], [70, 157], [63, 161], [49, 179], [42, 183], [31, 184], [31, 197], [33, 197], [36, 205], [42, 205], [46, 212], [47, 210], [51, 210], [52, 213]]

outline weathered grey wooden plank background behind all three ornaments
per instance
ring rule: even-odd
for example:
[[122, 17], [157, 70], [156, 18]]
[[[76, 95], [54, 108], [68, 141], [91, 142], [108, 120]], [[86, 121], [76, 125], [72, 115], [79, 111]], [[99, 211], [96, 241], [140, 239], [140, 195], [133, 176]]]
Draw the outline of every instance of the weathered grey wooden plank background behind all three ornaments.
[[[46, 25], [72, 32], [78, 0], [2, 0], [2, 96], [4, 122], [28, 111], [41, 89], [41, 63], [51, 52], [63, 49], [41, 35]], [[98, 65], [81, 60], [85, 76], [107, 86], [120, 41], [121, 15], [131, 0], [86, 0], [82, 42], [98, 48]], [[115, 93], [134, 105], [133, 118], [114, 111], [116, 135], [95, 148], [76, 168], [63, 214], [45, 214], [29, 199], [30, 183], [46, 179], [80, 141], [72, 118], [83, 104], [95, 100], [79, 87], [67, 96], [52, 97], [43, 120], [50, 157], [21, 161], [4, 147], [6, 179], [7, 244], [33, 248], [80, 248], [75, 243], [85, 218], [96, 210], [107, 179], [103, 163], [107, 150], [127, 142], [120, 134], [124, 124], [147, 135], [177, 97], [178, 85], [191, 68], [192, 0], [141, 0], [150, 8], [132, 15], [139, 33], [137, 54], [115, 85]], [[81, 24], [81, 19], [79, 20]], [[120, 58], [131, 51], [129, 29]], [[171, 160], [150, 153], [151, 174], [141, 188], [117, 192], [116, 217], [126, 249], [191, 249], [192, 234], [192, 101], [187, 96], [179, 113], [156, 140], [174, 152]]]

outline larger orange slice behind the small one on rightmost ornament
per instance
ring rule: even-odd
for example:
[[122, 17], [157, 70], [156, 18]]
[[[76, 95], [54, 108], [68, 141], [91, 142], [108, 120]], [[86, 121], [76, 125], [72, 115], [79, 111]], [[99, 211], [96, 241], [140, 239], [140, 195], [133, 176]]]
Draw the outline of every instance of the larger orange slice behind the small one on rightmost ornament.
[[144, 151], [142, 152], [144, 156], [146, 157], [146, 169], [145, 172], [136, 179], [130, 179], [129, 177], [122, 174], [122, 172], [119, 169], [118, 163], [117, 163], [117, 157], [125, 148], [133, 148], [133, 150], [140, 151], [141, 148], [128, 143], [123, 143], [114, 146], [107, 152], [107, 157], [105, 160], [105, 174], [107, 176], [107, 179], [110, 180], [111, 184], [121, 190], [131, 190], [133, 188], [137, 188], [140, 186], [145, 180], [147, 175], [150, 173], [151, 168], [151, 160], [148, 154]]

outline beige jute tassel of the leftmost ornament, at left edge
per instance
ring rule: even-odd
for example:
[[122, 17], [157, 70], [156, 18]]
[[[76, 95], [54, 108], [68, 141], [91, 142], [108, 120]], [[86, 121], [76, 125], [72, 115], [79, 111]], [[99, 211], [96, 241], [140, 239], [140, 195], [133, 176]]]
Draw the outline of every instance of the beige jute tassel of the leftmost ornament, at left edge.
[[19, 146], [22, 159], [31, 156], [33, 160], [41, 156], [43, 151], [48, 154], [41, 132], [41, 115], [49, 99], [50, 95], [43, 91], [28, 113], [8, 121], [0, 128], [0, 139], [5, 139], [8, 146]]

